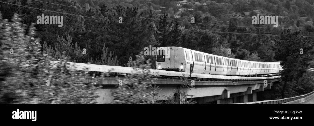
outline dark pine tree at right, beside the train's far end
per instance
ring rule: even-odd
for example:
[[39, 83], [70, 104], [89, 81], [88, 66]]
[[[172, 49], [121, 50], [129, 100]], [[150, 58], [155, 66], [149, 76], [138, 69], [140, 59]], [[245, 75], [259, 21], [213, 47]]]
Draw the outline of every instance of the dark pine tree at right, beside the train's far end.
[[[283, 70], [280, 72], [283, 82], [281, 97], [285, 98], [285, 92], [294, 90], [291, 84], [300, 85], [299, 79], [306, 73], [309, 62], [313, 60], [314, 42], [307, 37], [300, 36], [301, 31], [281, 34], [277, 44], [275, 59], [281, 61]], [[301, 52], [302, 50], [303, 52]]]

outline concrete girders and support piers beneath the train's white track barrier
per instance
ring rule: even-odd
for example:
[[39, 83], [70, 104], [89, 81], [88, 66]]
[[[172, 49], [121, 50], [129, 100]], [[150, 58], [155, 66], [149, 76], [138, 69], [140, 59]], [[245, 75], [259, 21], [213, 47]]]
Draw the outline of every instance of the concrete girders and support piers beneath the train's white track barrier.
[[[250, 77], [248, 77], [250, 78]], [[121, 79], [121, 78], [120, 78]], [[113, 98], [111, 97], [110, 90], [114, 86], [118, 85], [119, 78], [106, 77], [102, 80], [104, 87], [111, 87], [106, 89], [100, 89], [98, 92], [101, 94], [98, 98], [100, 104], [108, 103]], [[183, 88], [181, 90], [187, 92], [189, 95], [193, 95], [198, 104], [205, 104], [207, 102], [217, 101], [217, 104], [230, 104], [240, 102], [256, 102], [256, 92], [261, 92], [270, 89], [275, 82], [278, 82], [280, 78], [269, 77], [267, 84], [264, 84], [264, 80], [243, 80], [243, 81], [195, 81], [195, 88]], [[174, 92], [182, 84], [180, 79], [162, 79], [158, 78], [155, 84], [162, 89], [159, 93], [160, 96], [173, 96]], [[191, 98], [191, 97], [188, 97]], [[160, 97], [158, 100], [166, 100], [165, 97]]]

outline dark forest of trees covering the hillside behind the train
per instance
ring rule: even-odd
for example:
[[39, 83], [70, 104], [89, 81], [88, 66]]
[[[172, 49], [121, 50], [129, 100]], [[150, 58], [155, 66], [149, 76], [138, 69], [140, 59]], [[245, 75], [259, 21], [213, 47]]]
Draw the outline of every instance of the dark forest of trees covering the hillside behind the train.
[[[36, 17], [42, 13], [63, 16], [62, 27], [55, 24], [34, 24], [33, 37], [42, 45], [41, 51], [49, 52], [52, 60], [61, 59], [65, 55], [71, 62], [128, 66], [130, 57], [136, 59], [136, 55], [149, 45], [179, 46], [242, 60], [285, 61], [287, 64], [282, 64], [285, 66], [291, 65], [292, 58], [296, 58], [302, 65], [282, 73], [285, 79], [279, 86], [281, 88], [278, 88], [280, 96], [304, 94], [314, 87], [311, 79], [302, 79], [304, 76], [313, 77], [304, 69], [313, 64], [311, 39], [314, 36], [314, 0], [187, 0], [186, 3], [180, 3], [179, 0], [5, 2], [32, 7], [0, 4], [1, 20], [8, 19], [12, 23], [12, 17], [17, 13], [21, 18], [20, 22], [25, 24], [25, 34], [30, 34], [33, 29], [31, 24], [36, 23]], [[85, 8], [86, 3], [90, 6], [89, 10], [79, 9]], [[268, 24], [253, 25], [252, 16], [257, 13], [278, 15], [279, 27]], [[243, 16], [238, 18], [234, 14]], [[122, 23], [119, 23], [120, 17]], [[191, 23], [192, 17], [195, 18], [195, 23]], [[305, 37], [298, 38], [302, 35]], [[292, 44], [283, 36], [293, 40], [297, 38], [298, 41], [292, 40]], [[283, 48], [286, 45], [294, 48]], [[304, 55], [287, 58], [293, 53], [299, 53], [300, 48], [304, 49]], [[86, 55], [82, 55], [82, 49], [86, 49]], [[227, 49], [231, 49], [231, 55], [227, 54]], [[64, 55], [63, 51], [66, 52]], [[154, 69], [154, 56], [145, 58], [152, 59], [151, 68]], [[293, 71], [298, 71], [294, 73], [298, 76], [291, 79]], [[302, 82], [298, 83], [299, 81]], [[298, 85], [304, 81], [309, 84]], [[297, 88], [291, 85], [297, 85]], [[284, 95], [284, 91], [291, 90], [297, 93]]]

